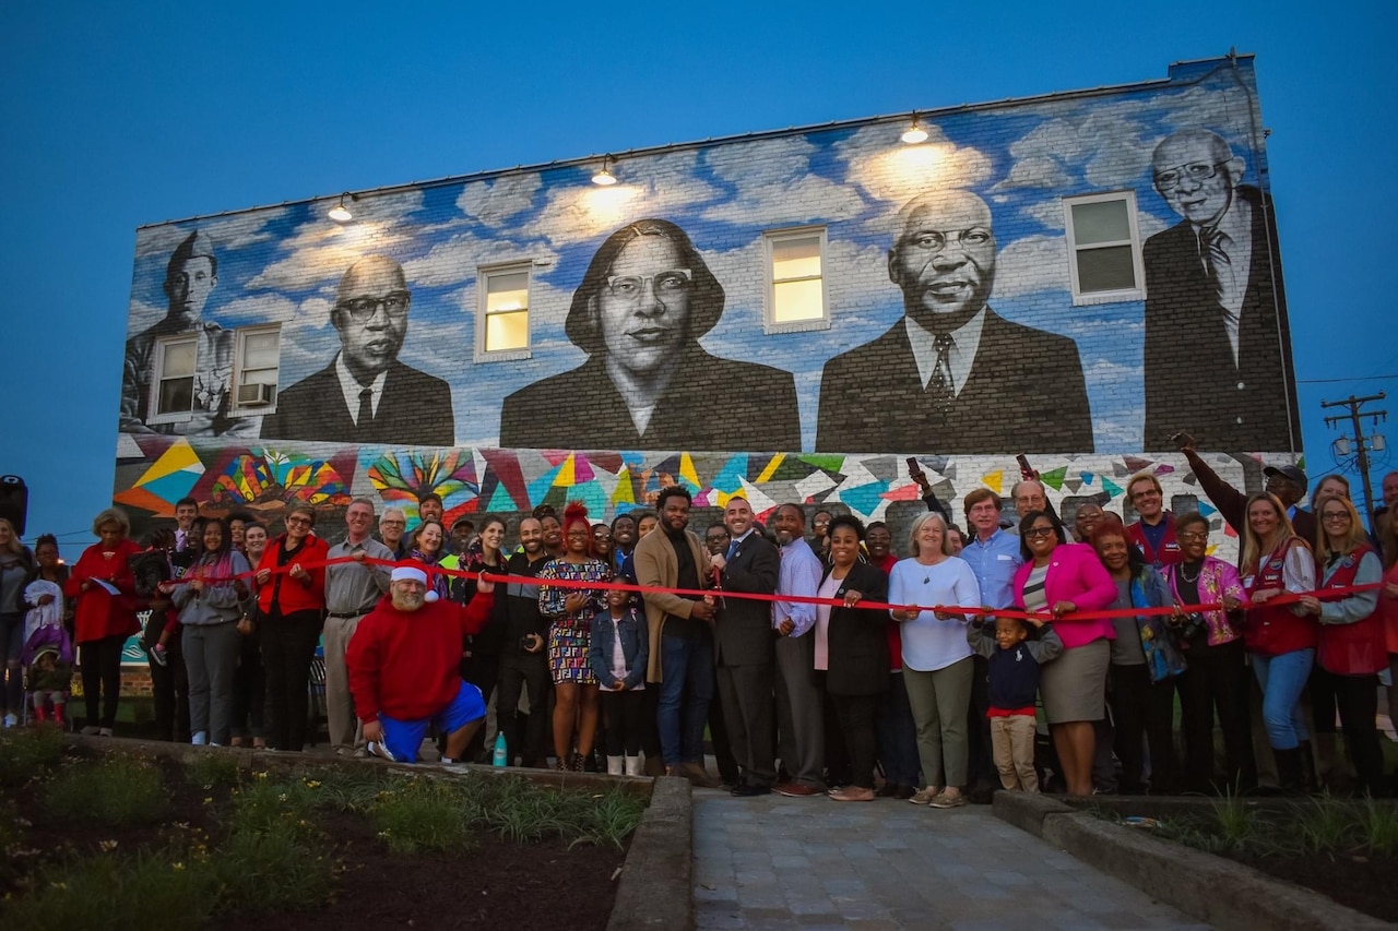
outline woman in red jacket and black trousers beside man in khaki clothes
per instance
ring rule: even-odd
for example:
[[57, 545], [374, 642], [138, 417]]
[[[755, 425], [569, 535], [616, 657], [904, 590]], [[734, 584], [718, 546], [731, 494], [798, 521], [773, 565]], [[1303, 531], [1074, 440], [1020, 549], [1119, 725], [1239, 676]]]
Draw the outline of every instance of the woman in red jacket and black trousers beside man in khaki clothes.
[[292, 507], [287, 533], [267, 544], [254, 575], [273, 749], [301, 751], [306, 742], [306, 688], [324, 621], [324, 561], [330, 551], [312, 533], [315, 526], [315, 509]]

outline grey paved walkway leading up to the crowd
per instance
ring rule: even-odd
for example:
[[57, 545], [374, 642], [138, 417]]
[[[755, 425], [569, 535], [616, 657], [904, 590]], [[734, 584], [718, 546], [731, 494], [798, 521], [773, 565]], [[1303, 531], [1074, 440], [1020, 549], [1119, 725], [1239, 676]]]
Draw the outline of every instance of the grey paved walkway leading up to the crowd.
[[698, 928], [1204, 928], [990, 807], [693, 794]]

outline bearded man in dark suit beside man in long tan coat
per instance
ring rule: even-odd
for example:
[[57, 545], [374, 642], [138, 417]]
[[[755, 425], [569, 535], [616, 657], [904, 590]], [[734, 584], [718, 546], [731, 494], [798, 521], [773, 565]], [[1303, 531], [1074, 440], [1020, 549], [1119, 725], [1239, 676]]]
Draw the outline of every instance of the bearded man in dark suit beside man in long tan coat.
[[[712, 556], [721, 570], [724, 591], [774, 594], [781, 558], [772, 542], [756, 533], [752, 505], [730, 498], [723, 513], [728, 547]], [[772, 746], [772, 684], [776, 637], [772, 602], [724, 598], [714, 621], [714, 654], [719, 663], [719, 700], [733, 755], [741, 769], [734, 795], [766, 795], [776, 781], [776, 749]]]

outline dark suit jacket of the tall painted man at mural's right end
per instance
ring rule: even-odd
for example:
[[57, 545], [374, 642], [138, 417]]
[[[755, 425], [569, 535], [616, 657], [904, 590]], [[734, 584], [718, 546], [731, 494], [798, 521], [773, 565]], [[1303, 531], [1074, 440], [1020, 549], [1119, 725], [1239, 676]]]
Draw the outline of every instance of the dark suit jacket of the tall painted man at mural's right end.
[[[1255, 187], [1234, 194], [1253, 208], [1253, 260], [1233, 362], [1223, 308], [1199, 259], [1198, 233], [1180, 222], [1145, 243], [1145, 449], [1173, 450], [1186, 431], [1201, 450], [1295, 449], [1300, 421], [1292, 382], [1276, 225]], [[1292, 431], [1288, 429], [1290, 418]], [[1293, 442], [1295, 436], [1295, 442]]]

